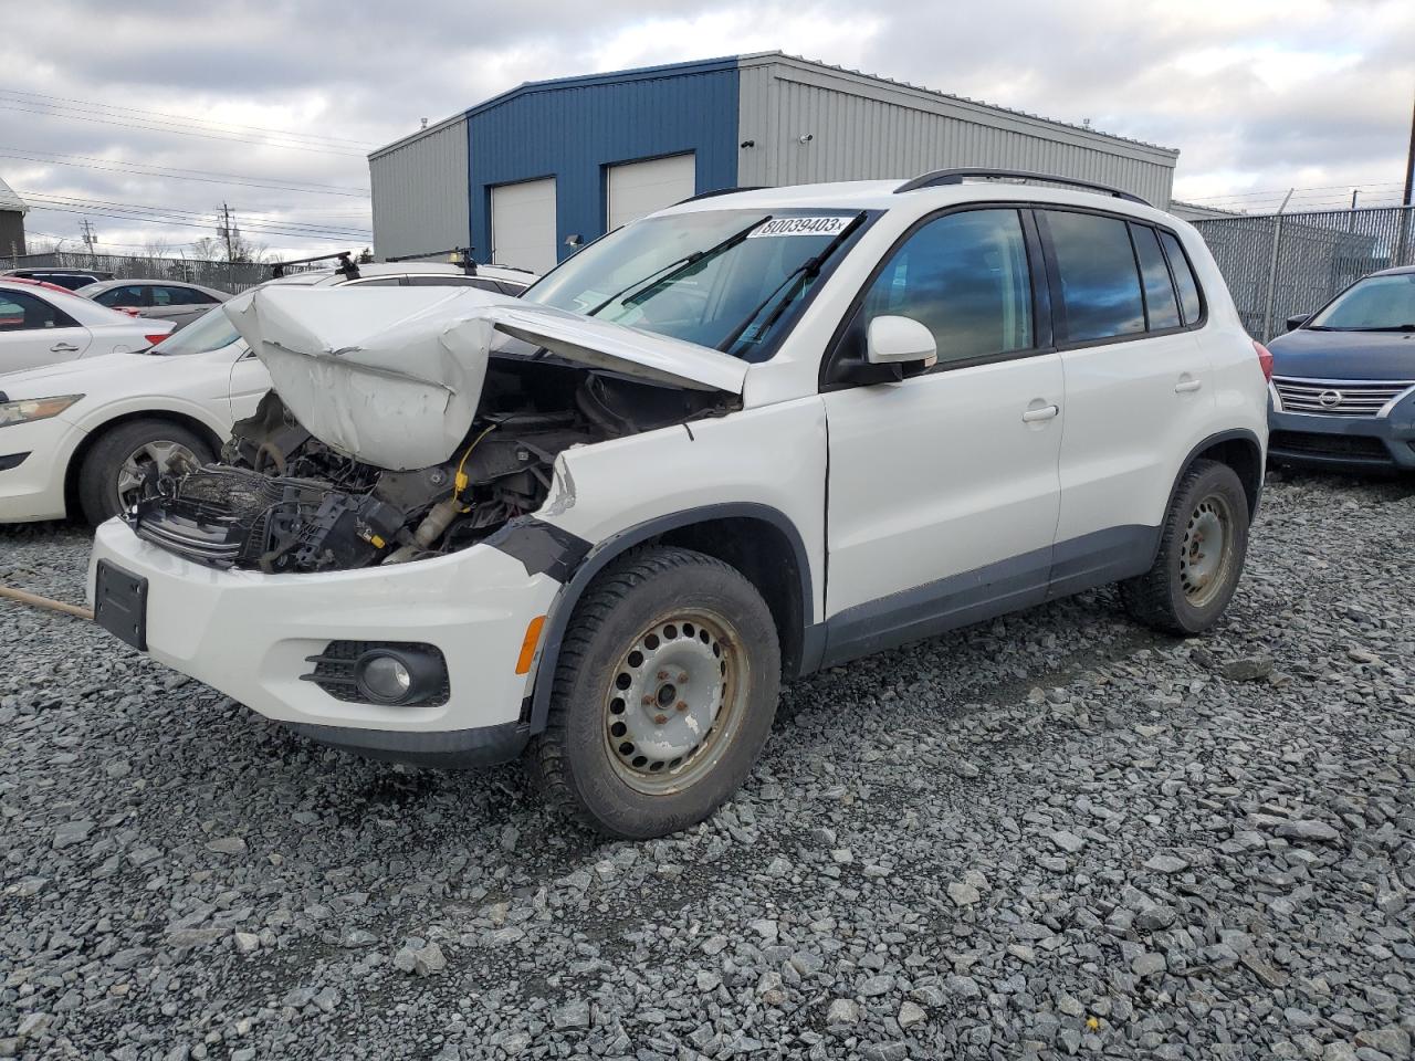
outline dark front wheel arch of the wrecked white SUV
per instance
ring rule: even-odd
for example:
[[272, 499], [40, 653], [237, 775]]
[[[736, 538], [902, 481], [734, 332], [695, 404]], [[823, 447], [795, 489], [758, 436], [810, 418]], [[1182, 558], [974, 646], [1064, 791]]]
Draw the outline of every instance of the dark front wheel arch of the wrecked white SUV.
[[824, 637], [814, 620], [809, 553], [795, 523], [780, 509], [760, 504], [722, 504], [649, 519], [590, 549], [550, 607], [545, 641], [528, 697], [531, 733], [545, 729], [550, 686], [570, 617], [586, 587], [613, 560], [645, 545], [675, 545], [715, 556], [736, 567], [757, 587], [777, 625], [782, 678], [814, 671]]

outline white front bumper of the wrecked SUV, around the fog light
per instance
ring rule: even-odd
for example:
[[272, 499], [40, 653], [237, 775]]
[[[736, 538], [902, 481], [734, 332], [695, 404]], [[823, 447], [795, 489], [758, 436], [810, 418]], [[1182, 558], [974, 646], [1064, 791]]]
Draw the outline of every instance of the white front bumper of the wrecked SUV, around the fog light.
[[[526, 625], [560, 589], [497, 549], [473, 546], [391, 567], [318, 574], [218, 570], [139, 539], [122, 521], [93, 539], [108, 560], [147, 580], [147, 652], [267, 719], [378, 758], [474, 765], [512, 758], [529, 738], [518, 675]], [[436, 645], [450, 695], [440, 705], [337, 699], [301, 680], [331, 641]]]

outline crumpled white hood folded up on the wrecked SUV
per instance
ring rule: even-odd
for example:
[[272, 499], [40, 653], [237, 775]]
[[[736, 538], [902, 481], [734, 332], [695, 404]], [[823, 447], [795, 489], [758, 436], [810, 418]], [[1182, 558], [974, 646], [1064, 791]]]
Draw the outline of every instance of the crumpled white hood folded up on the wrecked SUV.
[[475, 287], [270, 286], [222, 308], [314, 437], [399, 471], [453, 456], [502, 335], [689, 389], [740, 395], [747, 375], [726, 354]]

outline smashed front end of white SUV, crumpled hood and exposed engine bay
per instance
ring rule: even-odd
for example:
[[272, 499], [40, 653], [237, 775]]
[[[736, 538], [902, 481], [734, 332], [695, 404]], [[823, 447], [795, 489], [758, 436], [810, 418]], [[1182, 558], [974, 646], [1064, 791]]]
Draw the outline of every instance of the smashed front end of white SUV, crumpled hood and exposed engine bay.
[[235, 424], [219, 463], [157, 477], [125, 514], [144, 540], [214, 567], [466, 549], [539, 509], [566, 448], [737, 405], [723, 366], [700, 373], [713, 382], [672, 371], [686, 344], [475, 290], [270, 289], [229, 306], [280, 393]]

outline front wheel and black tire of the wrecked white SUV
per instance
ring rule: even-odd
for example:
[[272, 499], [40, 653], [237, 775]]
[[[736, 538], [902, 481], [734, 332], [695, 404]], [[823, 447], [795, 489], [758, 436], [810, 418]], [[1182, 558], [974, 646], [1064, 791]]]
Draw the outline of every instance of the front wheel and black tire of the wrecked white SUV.
[[780, 682], [775, 624], [740, 572], [688, 549], [630, 553], [574, 608], [532, 772], [607, 836], [686, 829], [746, 781]]

